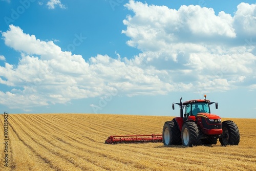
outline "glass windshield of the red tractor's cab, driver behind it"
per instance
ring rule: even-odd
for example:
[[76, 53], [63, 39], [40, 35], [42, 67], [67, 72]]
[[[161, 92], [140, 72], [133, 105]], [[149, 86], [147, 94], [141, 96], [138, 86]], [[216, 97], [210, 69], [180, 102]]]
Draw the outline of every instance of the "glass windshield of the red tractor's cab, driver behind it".
[[186, 105], [186, 114], [196, 116], [198, 113], [210, 113], [209, 103], [198, 102]]

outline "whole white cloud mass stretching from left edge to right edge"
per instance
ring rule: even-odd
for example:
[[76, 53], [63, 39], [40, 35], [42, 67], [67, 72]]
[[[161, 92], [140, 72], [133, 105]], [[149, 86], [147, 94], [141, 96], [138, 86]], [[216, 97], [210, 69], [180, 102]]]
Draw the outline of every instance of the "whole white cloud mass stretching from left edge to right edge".
[[130, 1], [125, 7], [134, 15], [123, 20], [122, 33], [128, 46], [141, 50], [131, 58], [98, 54], [86, 61], [10, 25], [2, 38], [20, 58], [17, 66], [0, 66], [0, 83], [13, 88], [0, 91], [1, 103], [26, 109], [109, 92], [255, 90], [255, 4], [239, 4], [234, 16], [193, 5], [175, 10]]

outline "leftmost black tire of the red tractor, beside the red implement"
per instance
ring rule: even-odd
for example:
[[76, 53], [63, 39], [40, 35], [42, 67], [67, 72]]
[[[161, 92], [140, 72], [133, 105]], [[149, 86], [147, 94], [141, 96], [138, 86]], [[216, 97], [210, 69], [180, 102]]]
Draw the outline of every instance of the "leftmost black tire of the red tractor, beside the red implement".
[[181, 145], [180, 130], [176, 121], [167, 121], [163, 125], [163, 144]]

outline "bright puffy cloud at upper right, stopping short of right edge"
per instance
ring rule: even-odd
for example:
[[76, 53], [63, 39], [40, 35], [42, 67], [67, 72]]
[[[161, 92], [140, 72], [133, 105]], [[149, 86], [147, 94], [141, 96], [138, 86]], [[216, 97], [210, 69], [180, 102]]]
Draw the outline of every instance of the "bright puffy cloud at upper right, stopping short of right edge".
[[167, 48], [172, 42], [202, 42], [212, 38], [232, 40], [236, 37], [233, 18], [223, 11], [215, 15], [213, 9], [200, 6], [181, 6], [175, 10], [134, 1], [125, 7], [135, 15], [123, 20], [127, 29], [122, 33], [132, 38], [128, 45], [143, 51]]

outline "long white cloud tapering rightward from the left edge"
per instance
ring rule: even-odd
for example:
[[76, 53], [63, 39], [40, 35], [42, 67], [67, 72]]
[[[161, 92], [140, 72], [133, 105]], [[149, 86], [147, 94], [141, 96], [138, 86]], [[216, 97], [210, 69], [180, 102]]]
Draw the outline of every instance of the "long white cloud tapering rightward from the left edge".
[[98, 54], [85, 61], [81, 55], [61, 51], [53, 41], [42, 41], [13, 25], [2, 35], [7, 46], [21, 53], [17, 66], [8, 62], [0, 66], [0, 83], [14, 87], [1, 92], [2, 98], [8, 97], [2, 103], [13, 108], [66, 103], [114, 90], [134, 96], [166, 94], [174, 89], [170, 82], [160, 79], [168, 77], [167, 72], [141, 69], [120, 56], [114, 59]]

